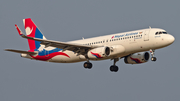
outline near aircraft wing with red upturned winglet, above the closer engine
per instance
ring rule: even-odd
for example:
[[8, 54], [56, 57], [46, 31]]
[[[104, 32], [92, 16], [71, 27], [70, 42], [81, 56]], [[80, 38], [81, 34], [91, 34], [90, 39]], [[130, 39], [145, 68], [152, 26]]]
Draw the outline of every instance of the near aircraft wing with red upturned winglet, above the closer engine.
[[22, 31], [19, 29], [17, 25], [16, 29], [19, 33], [19, 35], [23, 38], [35, 40], [41, 42], [40, 44], [45, 45], [45, 47], [51, 46], [56, 47], [65, 50], [70, 50], [78, 54], [84, 55], [89, 49], [101, 47], [101, 46], [89, 46], [89, 45], [82, 45], [82, 44], [76, 44], [76, 43], [70, 43], [70, 42], [60, 42], [60, 41], [53, 41], [53, 40], [46, 40], [46, 39], [40, 39], [40, 38], [33, 38], [26, 36], [22, 33]]

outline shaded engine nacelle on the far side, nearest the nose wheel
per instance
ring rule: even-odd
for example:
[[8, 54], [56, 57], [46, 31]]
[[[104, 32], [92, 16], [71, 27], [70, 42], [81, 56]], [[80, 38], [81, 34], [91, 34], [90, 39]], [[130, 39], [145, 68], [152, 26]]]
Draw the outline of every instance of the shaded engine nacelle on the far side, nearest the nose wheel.
[[148, 52], [134, 53], [124, 58], [126, 64], [141, 64], [149, 60]]

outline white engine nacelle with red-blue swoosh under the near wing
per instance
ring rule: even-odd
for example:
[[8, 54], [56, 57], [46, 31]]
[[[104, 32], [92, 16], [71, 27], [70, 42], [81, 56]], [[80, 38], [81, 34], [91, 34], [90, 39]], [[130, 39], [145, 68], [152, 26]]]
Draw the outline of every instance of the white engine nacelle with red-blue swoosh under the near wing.
[[90, 50], [87, 55], [89, 59], [97, 59], [97, 58], [104, 58], [108, 57], [111, 53], [111, 50], [109, 47], [99, 47]]

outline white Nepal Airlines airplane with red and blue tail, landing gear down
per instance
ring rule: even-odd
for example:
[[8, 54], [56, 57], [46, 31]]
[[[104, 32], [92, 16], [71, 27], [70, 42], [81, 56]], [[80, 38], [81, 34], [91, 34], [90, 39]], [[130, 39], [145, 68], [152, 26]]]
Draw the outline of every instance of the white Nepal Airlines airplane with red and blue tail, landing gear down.
[[[47, 40], [31, 18], [23, 19], [26, 35], [15, 24], [22, 38], [28, 40], [28, 51], [5, 49], [20, 53], [21, 57], [55, 63], [84, 63], [84, 68], [91, 69], [90, 61], [110, 59], [111, 72], [119, 70], [116, 62], [124, 59], [126, 64], [141, 64], [156, 61], [155, 50], [171, 45], [175, 38], [160, 28], [147, 28], [69, 42]], [[149, 52], [150, 54], [149, 54]]]

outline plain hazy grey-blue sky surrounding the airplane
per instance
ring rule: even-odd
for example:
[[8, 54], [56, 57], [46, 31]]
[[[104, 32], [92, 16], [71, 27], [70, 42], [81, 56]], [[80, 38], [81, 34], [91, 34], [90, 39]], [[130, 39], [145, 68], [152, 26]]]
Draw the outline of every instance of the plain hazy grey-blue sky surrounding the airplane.
[[[1, 0], [0, 101], [178, 101], [180, 100], [179, 0]], [[71, 41], [157, 27], [176, 40], [156, 50], [156, 62], [47, 63], [4, 49], [28, 50], [14, 24], [32, 18], [47, 39]]]

